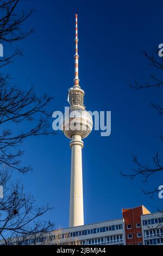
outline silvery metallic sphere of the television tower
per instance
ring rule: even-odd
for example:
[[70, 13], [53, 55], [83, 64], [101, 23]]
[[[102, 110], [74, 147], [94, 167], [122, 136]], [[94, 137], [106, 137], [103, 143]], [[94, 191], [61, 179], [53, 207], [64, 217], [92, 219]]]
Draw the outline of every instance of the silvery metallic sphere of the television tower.
[[92, 131], [92, 116], [85, 109], [71, 107], [69, 111], [65, 112], [61, 120], [61, 127], [67, 138], [71, 139], [73, 135], [80, 135], [84, 139]]

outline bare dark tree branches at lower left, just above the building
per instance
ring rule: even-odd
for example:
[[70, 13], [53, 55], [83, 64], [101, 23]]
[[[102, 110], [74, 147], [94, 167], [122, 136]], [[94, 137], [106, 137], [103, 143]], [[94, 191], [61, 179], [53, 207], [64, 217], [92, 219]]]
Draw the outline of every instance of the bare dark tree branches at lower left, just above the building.
[[0, 171], [0, 177], [3, 177], [1, 184], [5, 187], [4, 198], [0, 199], [0, 235], [5, 244], [14, 234], [29, 236], [51, 230], [51, 222], [39, 219], [51, 208], [35, 205], [33, 196], [24, 192], [20, 181], [11, 182], [7, 170]]

